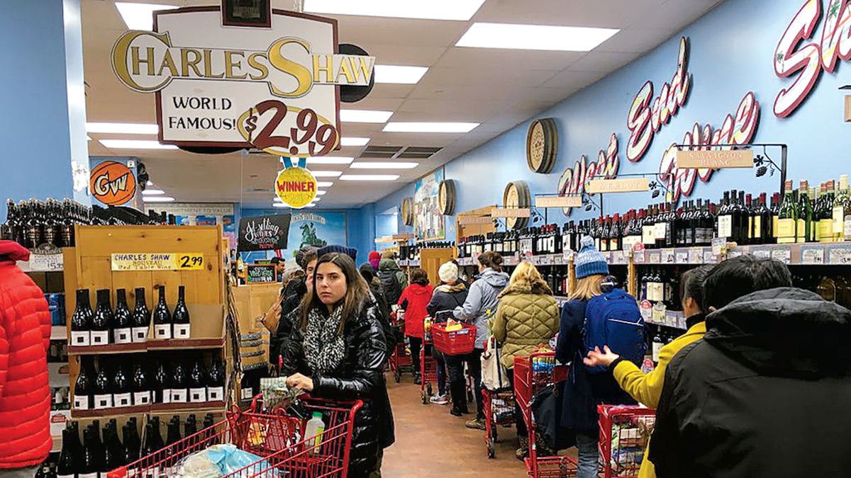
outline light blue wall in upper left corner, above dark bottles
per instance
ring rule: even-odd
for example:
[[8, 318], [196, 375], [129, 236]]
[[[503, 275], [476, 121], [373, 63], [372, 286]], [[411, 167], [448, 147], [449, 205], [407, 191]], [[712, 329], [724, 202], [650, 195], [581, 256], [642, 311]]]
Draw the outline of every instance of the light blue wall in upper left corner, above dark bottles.
[[0, 196], [72, 197], [71, 159], [88, 162], [79, 0], [3, 3]]

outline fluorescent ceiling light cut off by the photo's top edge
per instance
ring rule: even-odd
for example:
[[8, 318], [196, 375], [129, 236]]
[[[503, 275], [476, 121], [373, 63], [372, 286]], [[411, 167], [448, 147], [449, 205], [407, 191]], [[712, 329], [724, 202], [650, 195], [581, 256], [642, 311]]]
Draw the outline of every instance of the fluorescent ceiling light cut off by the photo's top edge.
[[484, 0], [305, 0], [306, 13], [416, 18], [425, 20], [470, 20]]

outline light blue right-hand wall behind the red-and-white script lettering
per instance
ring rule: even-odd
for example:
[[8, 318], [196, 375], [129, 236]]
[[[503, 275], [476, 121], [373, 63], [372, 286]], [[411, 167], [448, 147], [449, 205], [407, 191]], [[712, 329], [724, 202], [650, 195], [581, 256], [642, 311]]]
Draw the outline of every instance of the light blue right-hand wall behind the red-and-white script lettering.
[[[720, 128], [723, 118], [735, 114], [749, 91], [755, 92], [761, 104], [753, 141], [789, 145], [789, 178], [795, 179], [796, 185], [798, 179], [818, 185], [839, 174], [851, 174], [851, 123], [842, 122], [843, 94], [837, 91], [851, 83], [851, 64], [839, 65], [832, 74], [823, 73], [809, 99], [791, 117], [774, 117], [774, 98], [792, 83], [791, 78], [781, 80], [774, 75], [774, 50], [802, 4], [802, 0], [727, 0], [659, 48], [536, 115], [557, 119], [558, 159], [552, 174], [534, 174], [526, 165], [526, 132], [534, 118], [448, 162], [446, 178], [457, 181], [455, 211], [501, 204], [505, 185], [513, 180], [528, 181], [533, 196], [555, 194], [564, 169], [573, 168], [581, 155], [596, 161], [613, 133], [620, 143], [620, 174], [658, 172], [665, 150], [681, 143], [695, 122], [701, 126], [709, 123], [713, 130]], [[663, 83], [671, 81], [683, 35], [690, 37], [692, 89], [688, 101], [655, 135], [643, 160], [631, 163], [625, 151], [630, 136], [626, 117], [632, 100], [648, 80], [654, 83], [654, 95]], [[820, 37], [821, 28], [814, 34], [814, 38]], [[779, 162], [779, 152], [769, 154]], [[776, 175], [757, 179], [752, 170], [727, 169], [709, 183], [698, 180], [691, 197], [717, 201], [724, 190], [777, 191], [779, 185]], [[377, 202], [375, 210], [397, 206], [413, 193], [413, 185], [406, 185]], [[603, 212], [623, 213], [660, 199], [652, 200], [649, 192], [608, 195]], [[574, 210], [570, 219], [593, 215]], [[560, 209], [550, 209], [549, 219], [551, 223], [565, 220]], [[454, 239], [454, 219], [447, 218], [447, 237]]]

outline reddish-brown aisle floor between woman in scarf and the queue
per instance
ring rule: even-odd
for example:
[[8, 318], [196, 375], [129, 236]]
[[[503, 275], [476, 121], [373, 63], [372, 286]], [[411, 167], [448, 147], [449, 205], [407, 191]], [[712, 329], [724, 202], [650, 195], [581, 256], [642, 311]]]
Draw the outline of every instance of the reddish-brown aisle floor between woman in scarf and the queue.
[[396, 418], [396, 443], [387, 448], [381, 475], [387, 478], [441, 476], [526, 476], [523, 463], [514, 458], [517, 439], [513, 428], [500, 428], [496, 458], [488, 459], [484, 432], [465, 428], [465, 418], [449, 414], [448, 405], [423, 405], [420, 385], [410, 375], [401, 384], [387, 374], [387, 389]]

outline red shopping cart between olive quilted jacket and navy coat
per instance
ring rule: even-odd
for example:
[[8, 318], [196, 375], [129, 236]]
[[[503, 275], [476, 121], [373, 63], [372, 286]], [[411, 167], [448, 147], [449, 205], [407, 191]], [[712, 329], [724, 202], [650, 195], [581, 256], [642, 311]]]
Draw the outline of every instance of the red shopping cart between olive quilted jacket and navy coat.
[[535, 444], [535, 421], [531, 403], [534, 395], [549, 384], [562, 382], [568, 367], [556, 364], [555, 352], [534, 352], [530, 356], [514, 357], [514, 396], [523, 412], [528, 428], [529, 454], [524, 460], [532, 478], [563, 478], [576, 475], [576, 461], [564, 456], [539, 456]]

